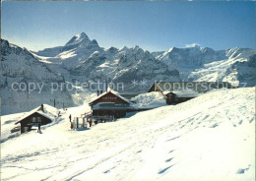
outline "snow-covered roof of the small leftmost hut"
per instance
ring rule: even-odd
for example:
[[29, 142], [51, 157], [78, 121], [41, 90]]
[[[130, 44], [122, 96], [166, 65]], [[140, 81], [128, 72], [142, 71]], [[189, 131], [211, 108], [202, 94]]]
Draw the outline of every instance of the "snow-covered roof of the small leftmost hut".
[[55, 117], [57, 117], [59, 110], [55, 107], [48, 105], [48, 104], [43, 104], [43, 111], [41, 110], [41, 106], [35, 107], [30, 112], [26, 113], [21, 118], [19, 118], [19, 120], [15, 124], [20, 123], [22, 120], [29, 117], [30, 115], [32, 115], [35, 112], [50, 119], [50, 120], [54, 120]]

